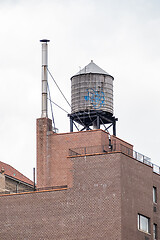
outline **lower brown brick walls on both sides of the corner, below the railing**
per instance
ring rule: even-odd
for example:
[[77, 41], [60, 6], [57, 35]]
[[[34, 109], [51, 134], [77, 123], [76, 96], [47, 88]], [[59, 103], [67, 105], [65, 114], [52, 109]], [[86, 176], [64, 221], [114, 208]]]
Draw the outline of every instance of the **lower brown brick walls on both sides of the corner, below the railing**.
[[[0, 196], [0, 239], [153, 240], [153, 223], [160, 226], [160, 176], [151, 167], [122, 153], [71, 159], [72, 188]], [[150, 218], [151, 235], [138, 230], [138, 213]]]

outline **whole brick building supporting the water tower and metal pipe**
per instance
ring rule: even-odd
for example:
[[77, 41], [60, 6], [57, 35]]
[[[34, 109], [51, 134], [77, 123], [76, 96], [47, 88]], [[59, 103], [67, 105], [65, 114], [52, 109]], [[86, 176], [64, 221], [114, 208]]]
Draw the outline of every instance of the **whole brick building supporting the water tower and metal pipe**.
[[0, 239], [158, 239], [155, 166], [103, 130], [51, 129], [37, 120], [39, 191], [0, 196]]

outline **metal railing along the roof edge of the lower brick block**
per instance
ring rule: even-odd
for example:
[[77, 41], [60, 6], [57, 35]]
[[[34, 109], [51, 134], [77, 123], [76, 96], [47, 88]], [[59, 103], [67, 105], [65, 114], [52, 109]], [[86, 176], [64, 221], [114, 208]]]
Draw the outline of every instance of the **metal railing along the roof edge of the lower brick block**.
[[128, 148], [123, 144], [113, 144], [112, 146], [109, 145], [98, 145], [98, 146], [89, 146], [89, 147], [81, 147], [81, 148], [74, 148], [69, 149], [69, 156], [81, 156], [81, 155], [92, 155], [92, 154], [105, 154], [111, 152], [121, 152], [124, 153], [139, 162], [142, 162], [150, 167], [153, 168], [153, 172], [160, 175], [160, 167], [153, 164], [151, 162], [151, 158], [136, 152], [132, 148]]

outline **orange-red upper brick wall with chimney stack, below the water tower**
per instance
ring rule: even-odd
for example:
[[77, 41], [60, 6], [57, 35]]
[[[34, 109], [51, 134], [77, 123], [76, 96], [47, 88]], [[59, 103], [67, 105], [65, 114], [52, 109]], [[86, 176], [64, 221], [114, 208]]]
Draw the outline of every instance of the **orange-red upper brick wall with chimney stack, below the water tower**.
[[108, 134], [102, 130], [56, 134], [50, 119], [37, 119], [37, 187], [72, 186], [72, 162], [69, 149], [107, 145]]

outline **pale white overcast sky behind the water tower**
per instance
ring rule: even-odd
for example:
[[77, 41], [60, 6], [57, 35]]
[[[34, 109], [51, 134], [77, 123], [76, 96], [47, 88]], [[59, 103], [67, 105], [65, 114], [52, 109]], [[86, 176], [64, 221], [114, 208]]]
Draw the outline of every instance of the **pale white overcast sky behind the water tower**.
[[[70, 100], [70, 78], [91, 59], [114, 76], [117, 136], [160, 165], [160, 1], [0, 0], [0, 161], [32, 178], [41, 116], [41, 44]], [[52, 99], [70, 111], [49, 78]], [[69, 119], [54, 107], [59, 132]]]

